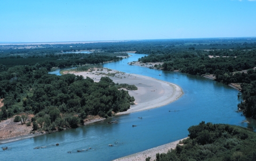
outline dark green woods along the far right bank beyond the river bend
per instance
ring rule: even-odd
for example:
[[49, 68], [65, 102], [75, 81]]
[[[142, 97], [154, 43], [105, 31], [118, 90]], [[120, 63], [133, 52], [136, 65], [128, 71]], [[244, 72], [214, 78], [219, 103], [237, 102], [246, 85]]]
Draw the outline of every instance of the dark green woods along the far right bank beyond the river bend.
[[[221, 55], [210, 58], [209, 55]], [[225, 57], [223, 57], [225, 56]], [[228, 56], [228, 57], [227, 57]], [[164, 62], [163, 70], [179, 70], [193, 75], [219, 74], [251, 69], [256, 64], [256, 50], [202, 50], [183, 51], [171, 54], [150, 54], [139, 61]]]

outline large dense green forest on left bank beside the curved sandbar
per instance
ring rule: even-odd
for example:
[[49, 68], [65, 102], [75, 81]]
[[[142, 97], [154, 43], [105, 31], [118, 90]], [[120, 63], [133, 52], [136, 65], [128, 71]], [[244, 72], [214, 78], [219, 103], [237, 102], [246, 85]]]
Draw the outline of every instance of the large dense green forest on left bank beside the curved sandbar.
[[[87, 57], [97, 56], [87, 54]], [[116, 61], [118, 57], [98, 55], [101, 61]], [[95, 60], [92, 58], [92, 62]], [[91, 63], [90, 59], [86, 63]], [[49, 63], [50, 64], [50, 63]], [[46, 65], [47, 66], [47, 65]], [[87, 115], [109, 117], [113, 112], [122, 112], [130, 108], [134, 101], [127, 91], [119, 88], [137, 88], [128, 84], [115, 84], [108, 77], [100, 82], [74, 74], [47, 74], [45, 63], [18, 65], [9, 67], [0, 73], [0, 97], [4, 106], [0, 111], [0, 120], [23, 113], [33, 113], [33, 129], [46, 131], [76, 128], [83, 124]], [[28, 125], [31, 124], [28, 123]], [[37, 124], [40, 126], [37, 127]]]

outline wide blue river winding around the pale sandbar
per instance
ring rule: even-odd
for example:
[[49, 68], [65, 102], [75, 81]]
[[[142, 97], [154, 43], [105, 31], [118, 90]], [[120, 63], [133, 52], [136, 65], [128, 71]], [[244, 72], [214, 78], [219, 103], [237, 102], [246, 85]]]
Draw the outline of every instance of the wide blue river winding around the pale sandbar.
[[[104, 64], [104, 67], [178, 84], [184, 95], [163, 107], [115, 116], [77, 129], [5, 143], [1, 147], [7, 146], [9, 149], [0, 150], [1, 160], [113, 160], [185, 138], [188, 136], [187, 129], [202, 121], [245, 128], [253, 126], [243, 123], [246, 118], [235, 112], [241, 101], [237, 98], [237, 90], [196, 75], [128, 65], [128, 62], [145, 56], [131, 55], [122, 61]], [[107, 124], [115, 120], [117, 124]], [[132, 127], [133, 124], [137, 126]], [[55, 143], [59, 143], [59, 146], [52, 146]], [[109, 144], [114, 146], [109, 147]], [[82, 149], [87, 151], [77, 152]]]

